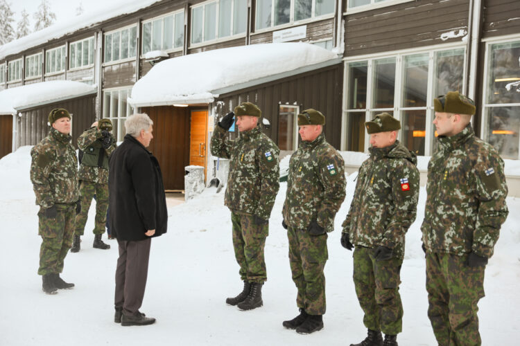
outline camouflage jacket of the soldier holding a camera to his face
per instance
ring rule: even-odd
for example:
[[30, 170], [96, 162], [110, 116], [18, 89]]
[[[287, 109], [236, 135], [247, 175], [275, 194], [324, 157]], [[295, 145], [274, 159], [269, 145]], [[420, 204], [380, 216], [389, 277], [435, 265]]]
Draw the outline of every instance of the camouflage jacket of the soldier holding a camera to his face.
[[[78, 179], [92, 183], [108, 183], [108, 156], [116, 149], [116, 138], [110, 134], [112, 144], [103, 148], [101, 129], [91, 127], [78, 138], [78, 147], [83, 151], [83, 159], [78, 172]], [[101, 156], [101, 157], [100, 157]], [[101, 162], [100, 162], [101, 161]]]

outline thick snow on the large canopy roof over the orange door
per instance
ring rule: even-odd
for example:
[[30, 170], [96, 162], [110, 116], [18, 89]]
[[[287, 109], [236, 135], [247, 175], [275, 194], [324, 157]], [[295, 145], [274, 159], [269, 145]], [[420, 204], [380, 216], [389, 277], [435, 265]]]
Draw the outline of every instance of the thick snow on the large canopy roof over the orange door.
[[302, 42], [253, 44], [164, 60], [132, 88], [134, 107], [213, 102], [219, 89], [320, 64], [338, 57]]

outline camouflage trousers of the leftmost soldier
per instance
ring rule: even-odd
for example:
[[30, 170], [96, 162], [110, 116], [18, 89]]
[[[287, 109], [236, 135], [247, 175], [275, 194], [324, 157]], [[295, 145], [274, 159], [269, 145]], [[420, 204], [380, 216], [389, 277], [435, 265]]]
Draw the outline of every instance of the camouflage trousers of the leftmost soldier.
[[44, 208], [38, 212], [38, 235], [42, 236], [39, 275], [61, 273], [63, 261], [72, 247], [76, 203], [55, 206], [58, 214], [54, 219], [45, 216]]

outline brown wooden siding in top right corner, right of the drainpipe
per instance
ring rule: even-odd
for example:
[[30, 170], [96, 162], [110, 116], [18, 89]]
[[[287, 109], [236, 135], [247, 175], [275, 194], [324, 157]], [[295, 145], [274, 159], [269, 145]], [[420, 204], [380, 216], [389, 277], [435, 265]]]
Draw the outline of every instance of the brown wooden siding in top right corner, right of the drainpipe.
[[519, 0], [484, 0], [482, 37], [520, 33]]

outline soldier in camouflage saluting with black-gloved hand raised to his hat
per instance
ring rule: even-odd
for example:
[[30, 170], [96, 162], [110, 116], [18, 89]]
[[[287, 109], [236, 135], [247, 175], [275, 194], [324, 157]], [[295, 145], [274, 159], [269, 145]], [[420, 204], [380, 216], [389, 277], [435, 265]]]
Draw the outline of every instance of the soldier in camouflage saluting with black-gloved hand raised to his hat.
[[[240, 136], [227, 140], [235, 115]], [[260, 117], [256, 105], [243, 102], [218, 122], [211, 137], [211, 154], [230, 160], [225, 206], [231, 210], [233, 246], [244, 286], [239, 295], [226, 302], [241, 310], [263, 304], [261, 288], [267, 280], [263, 250], [279, 189], [279, 149], [262, 133]]]

